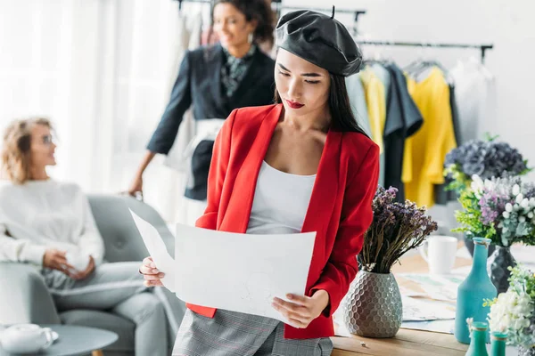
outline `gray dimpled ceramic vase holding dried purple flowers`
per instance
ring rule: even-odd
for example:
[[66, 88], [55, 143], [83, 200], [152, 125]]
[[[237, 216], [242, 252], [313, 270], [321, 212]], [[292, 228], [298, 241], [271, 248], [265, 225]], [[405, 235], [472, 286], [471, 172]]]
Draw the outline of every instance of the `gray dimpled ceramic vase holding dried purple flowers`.
[[358, 271], [342, 303], [344, 324], [353, 335], [392, 337], [401, 326], [401, 294], [391, 273]]

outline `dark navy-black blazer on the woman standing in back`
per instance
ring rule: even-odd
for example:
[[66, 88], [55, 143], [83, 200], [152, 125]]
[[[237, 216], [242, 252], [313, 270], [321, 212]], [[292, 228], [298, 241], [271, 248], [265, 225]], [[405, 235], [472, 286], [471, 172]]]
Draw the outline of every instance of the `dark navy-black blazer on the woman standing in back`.
[[193, 103], [193, 117], [226, 118], [236, 108], [268, 105], [275, 93], [275, 61], [259, 49], [249, 69], [230, 98], [222, 92], [221, 66], [225, 54], [220, 44], [185, 53], [169, 104], [147, 149], [168, 154], [177, 137], [185, 110]]

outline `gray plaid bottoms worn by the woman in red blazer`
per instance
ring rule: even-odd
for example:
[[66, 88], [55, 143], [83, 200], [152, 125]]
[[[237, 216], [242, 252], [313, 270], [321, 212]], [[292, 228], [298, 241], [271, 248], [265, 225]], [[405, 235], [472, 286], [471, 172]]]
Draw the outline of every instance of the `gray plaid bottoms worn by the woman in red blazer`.
[[213, 319], [187, 310], [173, 356], [330, 356], [330, 338], [284, 339], [279, 320], [218, 309]]

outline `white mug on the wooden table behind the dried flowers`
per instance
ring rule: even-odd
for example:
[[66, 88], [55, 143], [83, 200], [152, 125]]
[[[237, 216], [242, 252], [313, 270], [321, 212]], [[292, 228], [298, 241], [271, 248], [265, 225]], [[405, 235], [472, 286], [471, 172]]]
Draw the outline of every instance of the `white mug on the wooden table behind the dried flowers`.
[[[457, 254], [457, 238], [451, 236], [432, 235], [420, 247], [420, 254], [429, 264], [432, 274], [449, 274]], [[427, 247], [427, 248], [426, 248]]]

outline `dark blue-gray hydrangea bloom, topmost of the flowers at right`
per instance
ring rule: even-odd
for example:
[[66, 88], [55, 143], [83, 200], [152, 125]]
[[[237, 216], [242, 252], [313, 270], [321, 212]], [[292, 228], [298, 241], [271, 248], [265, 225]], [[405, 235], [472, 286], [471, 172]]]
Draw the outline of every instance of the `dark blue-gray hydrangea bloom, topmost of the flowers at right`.
[[475, 174], [482, 180], [492, 177], [504, 178], [523, 175], [531, 171], [522, 154], [506, 142], [497, 142], [497, 137], [486, 141], [470, 141], [449, 151], [444, 166], [445, 174], [452, 179], [449, 190], [461, 193], [470, 187]]

